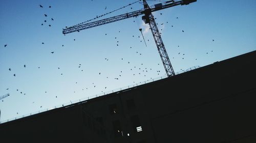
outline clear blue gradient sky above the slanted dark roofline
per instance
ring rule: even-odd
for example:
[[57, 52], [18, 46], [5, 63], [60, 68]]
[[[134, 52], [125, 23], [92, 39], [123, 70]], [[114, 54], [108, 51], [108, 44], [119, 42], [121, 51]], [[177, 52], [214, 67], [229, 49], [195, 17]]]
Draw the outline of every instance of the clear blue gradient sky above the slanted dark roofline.
[[[0, 121], [164, 76], [152, 33], [141, 16], [62, 34], [66, 26], [135, 1], [1, 0], [0, 96], [10, 96], [0, 102]], [[141, 8], [136, 3], [102, 18]], [[153, 15], [175, 72], [256, 49], [255, 0], [199, 0]]]

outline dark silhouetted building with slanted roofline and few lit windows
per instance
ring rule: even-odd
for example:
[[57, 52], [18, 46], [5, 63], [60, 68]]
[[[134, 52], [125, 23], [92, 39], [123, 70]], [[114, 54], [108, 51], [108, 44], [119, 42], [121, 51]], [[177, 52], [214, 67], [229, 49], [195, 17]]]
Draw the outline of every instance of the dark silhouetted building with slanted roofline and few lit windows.
[[256, 51], [0, 124], [1, 142], [256, 142]]

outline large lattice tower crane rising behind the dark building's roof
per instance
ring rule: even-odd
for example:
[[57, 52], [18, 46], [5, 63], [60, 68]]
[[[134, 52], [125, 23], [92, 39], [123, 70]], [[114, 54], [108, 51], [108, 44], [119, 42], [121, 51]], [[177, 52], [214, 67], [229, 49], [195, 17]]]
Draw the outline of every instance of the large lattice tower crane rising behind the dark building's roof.
[[131, 18], [131, 17], [137, 17], [139, 15], [143, 15], [142, 20], [145, 23], [148, 23], [150, 25], [150, 29], [153, 34], [154, 40], [156, 42], [157, 49], [160, 54], [160, 57], [161, 57], [161, 60], [162, 60], [162, 63], [163, 63], [163, 66], [164, 66], [167, 76], [168, 77], [174, 76], [175, 75], [174, 69], [172, 67], [172, 64], [170, 64], [168, 54], [164, 47], [161, 35], [158, 31], [157, 24], [155, 22], [152, 12], [170, 8], [170, 7], [174, 7], [174, 6], [178, 6], [178, 5], [188, 5], [193, 2], [197, 2], [197, 0], [183, 0], [183, 1], [177, 1], [177, 2], [176, 1], [167, 1], [167, 2], [159, 3], [159, 4], [156, 4], [156, 5], [150, 7], [150, 6], [148, 6], [146, 0], [143, 0], [144, 9], [130, 12], [130, 13], [125, 13], [125, 14], [110, 17], [110, 18], [105, 18], [105, 19], [90, 22], [90, 23], [77, 24], [77, 25], [63, 29], [62, 34], [65, 35], [65, 34], [69, 34], [69, 33], [73, 33], [73, 32], [79, 32], [81, 30], [85, 30], [85, 29], [88, 29], [91, 27], [95, 27], [95, 26]]

